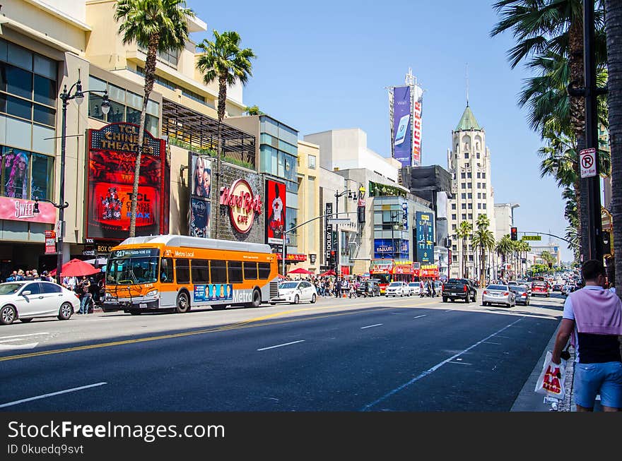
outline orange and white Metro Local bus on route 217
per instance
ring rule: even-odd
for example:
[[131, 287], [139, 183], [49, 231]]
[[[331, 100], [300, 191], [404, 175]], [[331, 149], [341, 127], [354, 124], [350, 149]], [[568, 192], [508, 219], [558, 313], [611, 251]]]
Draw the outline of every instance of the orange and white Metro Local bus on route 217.
[[106, 265], [102, 309], [139, 314], [257, 307], [278, 296], [276, 254], [266, 244], [180, 235], [131, 237]]

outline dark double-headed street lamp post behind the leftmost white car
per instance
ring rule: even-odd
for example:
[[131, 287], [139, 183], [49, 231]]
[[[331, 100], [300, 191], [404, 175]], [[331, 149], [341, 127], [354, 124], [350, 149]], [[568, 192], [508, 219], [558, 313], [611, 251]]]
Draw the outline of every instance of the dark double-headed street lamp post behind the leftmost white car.
[[[76, 89], [76, 92], [72, 95], [71, 92]], [[66, 152], [66, 136], [67, 136], [67, 105], [69, 101], [76, 100], [76, 104], [78, 106], [82, 104], [84, 101], [84, 95], [90, 92], [98, 92], [103, 93], [104, 97], [102, 99], [101, 109], [104, 114], [107, 114], [110, 111], [110, 102], [108, 101], [108, 91], [107, 90], [82, 90], [82, 82], [78, 78], [78, 81], [71, 85], [69, 91], [67, 91], [67, 85], [64, 85], [63, 92], [60, 94], [61, 101], [63, 102], [63, 112], [62, 112], [62, 125], [61, 125], [61, 165], [60, 165], [60, 176], [59, 176], [59, 203], [54, 203], [52, 200], [47, 200], [46, 198], [37, 198], [35, 197], [35, 207], [34, 212], [39, 212], [39, 201], [49, 202], [54, 205], [55, 208], [59, 210], [59, 227], [60, 232], [58, 235], [58, 249], [57, 249], [57, 262], [56, 262], [56, 280], [59, 285], [62, 285], [61, 279], [61, 269], [63, 265], [63, 237], [65, 231], [65, 208], [69, 206], [69, 203], [65, 201], [65, 152]]]

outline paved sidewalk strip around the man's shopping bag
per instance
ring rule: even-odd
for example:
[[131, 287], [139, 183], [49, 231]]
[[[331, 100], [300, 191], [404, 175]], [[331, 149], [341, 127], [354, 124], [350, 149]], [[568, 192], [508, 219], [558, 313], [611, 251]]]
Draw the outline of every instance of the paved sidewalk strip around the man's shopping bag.
[[[561, 325], [561, 322], [560, 322]], [[548, 345], [544, 348], [542, 355], [538, 359], [532, 374], [529, 375], [527, 381], [524, 383], [518, 397], [516, 398], [514, 405], [510, 409], [510, 412], [550, 412], [553, 407], [551, 403], [544, 403], [544, 395], [536, 394], [534, 389], [536, 388], [536, 381], [542, 371], [544, 364], [544, 357], [546, 357], [546, 351], [552, 351], [555, 345], [555, 337], [557, 336], [558, 328], [551, 336], [551, 340], [548, 341]], [[573, 399], [573, 362], [575, 360], [574, 348], [570, 348], [570, 359], [566, 361], [566, 395], [564, 400], [558, 406], [558, 412], [576, 412], [575, 401]]]

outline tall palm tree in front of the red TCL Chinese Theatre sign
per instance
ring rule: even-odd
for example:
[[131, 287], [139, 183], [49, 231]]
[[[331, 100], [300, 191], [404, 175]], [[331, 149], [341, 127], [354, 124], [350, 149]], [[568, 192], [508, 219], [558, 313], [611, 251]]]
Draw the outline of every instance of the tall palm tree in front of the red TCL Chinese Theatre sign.
[[136, 42], [139, 48], [147, 50], [139, 148], [136, 150], [134, 186], [131, 193], [129, 237], [136, 236], [136, 206], [141, 176], [141, 156], [145, 138], [147, 103], [155, 80], [155, 58], [158, 53], [179, 52], [184, 47], [188, 39], [188, 18], [192, 17], [194, 17], [194, 12], [186, 8], [185, 0], [119, 0], [117, 3], [115, 20], [122, 20], [119, 33], [123, 35], [123, 44]]

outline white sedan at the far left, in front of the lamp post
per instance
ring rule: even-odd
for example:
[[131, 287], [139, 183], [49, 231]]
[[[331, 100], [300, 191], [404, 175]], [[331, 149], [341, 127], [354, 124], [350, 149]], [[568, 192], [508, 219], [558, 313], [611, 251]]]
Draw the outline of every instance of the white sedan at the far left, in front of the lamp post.
[[74, 292], [53, 282], [20, 280], [0, 283], [0, 323], [16, 320], [28, 323], [33, 318], [57, 317], [69, 320], [80, 310]]

